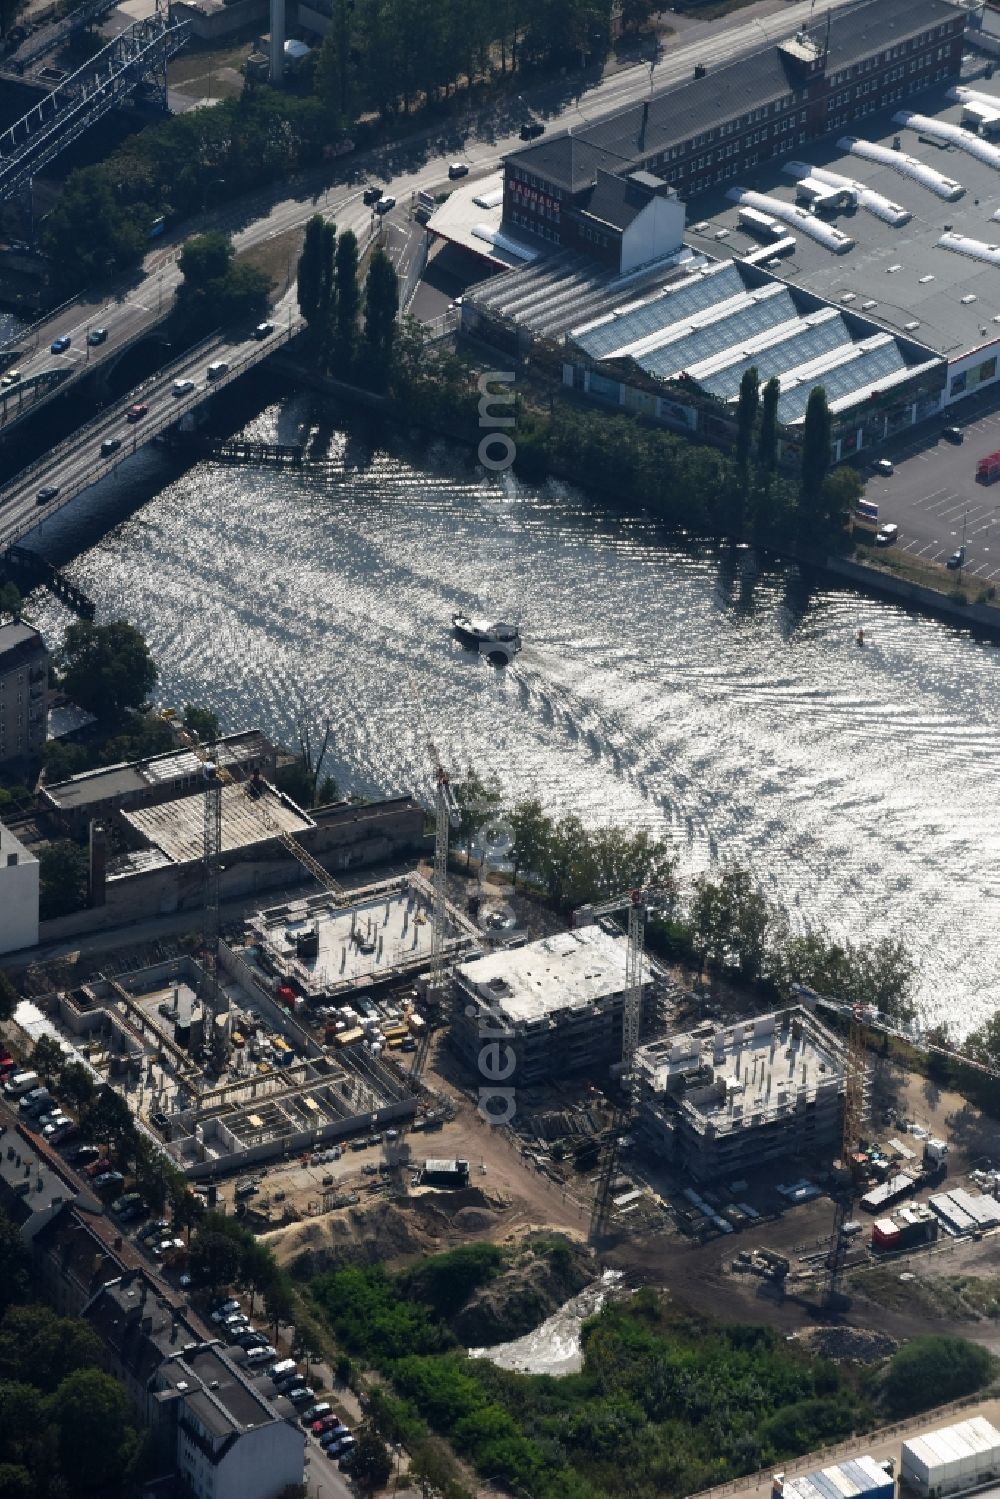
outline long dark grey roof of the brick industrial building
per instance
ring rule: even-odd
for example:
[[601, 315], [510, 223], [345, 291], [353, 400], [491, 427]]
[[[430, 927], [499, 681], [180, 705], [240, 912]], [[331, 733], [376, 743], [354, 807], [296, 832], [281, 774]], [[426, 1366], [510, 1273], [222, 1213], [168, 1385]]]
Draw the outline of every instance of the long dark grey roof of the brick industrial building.
[[[850, 67], [883, 46], [955, 19], [958, 15], [948, 0], [859, 0], [831, 16], [826, 70]], [[826, 18], [822, 25], [822, 33], [816, 28], [819, 36], [826, 34]], [[768, 43], [750, 57], [709, 69], [703, 78], [666, 88], [649, 100], [648, 109], [631, 105], [580, 130], [514, 151], [507, 160], [555, 186], [580, 192], [595, 180], [598, 168], [622, 171], [732, 120], [741, 109], [781, 99], [799, 82], [787, 49]]]

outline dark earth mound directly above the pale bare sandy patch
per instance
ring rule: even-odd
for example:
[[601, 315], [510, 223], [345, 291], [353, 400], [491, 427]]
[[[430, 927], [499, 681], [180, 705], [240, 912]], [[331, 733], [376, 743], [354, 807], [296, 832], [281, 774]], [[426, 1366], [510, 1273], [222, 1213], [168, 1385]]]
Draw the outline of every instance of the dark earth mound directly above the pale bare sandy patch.
[[594, 1280], [594, 1255], [561, 1240], [528, 1244], [519, 1262], [475, 1291], [451, 1318], [466, 1348], [492, 1348], [531, 1333]]

